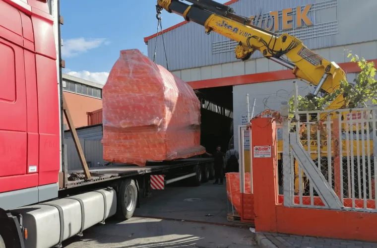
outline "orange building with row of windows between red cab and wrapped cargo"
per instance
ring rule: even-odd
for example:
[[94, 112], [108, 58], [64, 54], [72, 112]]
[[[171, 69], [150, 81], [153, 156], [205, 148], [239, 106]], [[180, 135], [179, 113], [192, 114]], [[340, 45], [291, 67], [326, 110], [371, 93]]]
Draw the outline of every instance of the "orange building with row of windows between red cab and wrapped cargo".
[[[88, 125], [88, 112], [102, 108], [102, 84], [63, 73], [63, 95], [75, 127]], [[64, 117], [64, 130], [68, 125]]]

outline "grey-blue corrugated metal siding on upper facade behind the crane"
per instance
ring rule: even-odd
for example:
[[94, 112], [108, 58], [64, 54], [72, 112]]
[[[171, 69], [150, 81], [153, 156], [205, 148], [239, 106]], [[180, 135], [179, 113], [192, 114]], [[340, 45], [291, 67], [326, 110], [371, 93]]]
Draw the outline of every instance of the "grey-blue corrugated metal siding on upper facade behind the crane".
[[[289, 7], [295, 9], [309, 3], [314, 4], [309, 14], [314, 26], [288, 30], [288, 33], [302, 39], [310, 49], [377, 40], [377, 32], [374, 32], [377, 16], [371, 12], [371, 9], [377, 8], [376, 0], [363, 0], [363, 4], [356, 0], [239, 0], [230, 6], [240, 15], [251, 16], [259, 11], [268, 13]], [[149, 58], [153, 58], [156, 39], [148, 41]], [[196, 23], [173, 29], [164, 34], [164, 39], [170, 70], [237, 61], [233, 51], [212, 51], [213, 43], [229, 43], [228, 38], [216, 33], [206, 35], [204, 28]], [[251, 59], [260, 57], [260, 53], [256, 52]], [[161, 36], [158, 37], [156, 62], [166, 67]]]

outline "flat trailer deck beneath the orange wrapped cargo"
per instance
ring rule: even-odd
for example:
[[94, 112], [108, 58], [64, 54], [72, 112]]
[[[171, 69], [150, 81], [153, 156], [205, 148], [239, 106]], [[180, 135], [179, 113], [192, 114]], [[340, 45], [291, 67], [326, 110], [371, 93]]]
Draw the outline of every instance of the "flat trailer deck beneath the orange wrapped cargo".
[[[147, 166], [140, 167], [136, 165], [113, 165], [89, 168], [92, 180], [85, 180], [83, 170], [72, 170], [67, 173], [65, 188], [90, 185], [99, 182], [105, 182], [120, 178], [153, 174], [174, 168], [192, 166], [195, 164], [211, 163], [213, 158], [188, 158], [165, 162], [149, 162]], [[64, 188], [61, 188], [62, 190]]]

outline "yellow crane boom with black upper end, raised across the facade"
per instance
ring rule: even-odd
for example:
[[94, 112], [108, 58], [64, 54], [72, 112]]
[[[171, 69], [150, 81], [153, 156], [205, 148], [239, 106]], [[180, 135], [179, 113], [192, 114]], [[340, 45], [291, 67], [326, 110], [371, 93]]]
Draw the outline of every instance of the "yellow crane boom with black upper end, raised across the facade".
[[[213, 0], [157, 0], [157, 8], [164, 8], [183, 16], [205, 28], [205, 32], [216, 32], [238, 42], [235, 49], [237, 59], [247, 60], [258, 50], [274, 62], [292, 70], [299, 79], [315, 85], [313, 95], [320, 90], [333, 93], [339, 89], [345, 72], [335, 63], [329, 62], [308, 49], [301, 40], [284, 33], [275, 33], [252, 25], [252, 20], [236, 15], [232, 8]], [[286, 59], [285, 59], [286, 57]], [[342, 94], [327, 107], [338, 109], [347, 106]]]

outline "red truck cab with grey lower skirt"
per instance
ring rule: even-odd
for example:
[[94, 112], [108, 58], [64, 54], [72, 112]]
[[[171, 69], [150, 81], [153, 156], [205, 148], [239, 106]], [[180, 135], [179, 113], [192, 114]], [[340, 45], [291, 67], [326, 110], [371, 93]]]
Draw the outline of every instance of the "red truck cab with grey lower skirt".
[[58, 196], [60, 119], [47, 0], [0, 0], [0, 209]]

